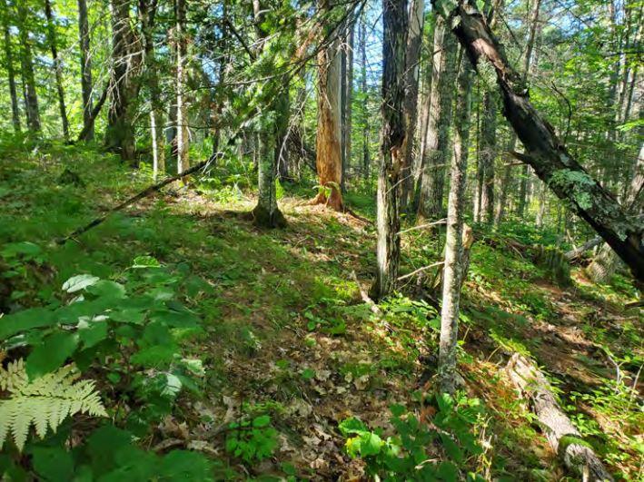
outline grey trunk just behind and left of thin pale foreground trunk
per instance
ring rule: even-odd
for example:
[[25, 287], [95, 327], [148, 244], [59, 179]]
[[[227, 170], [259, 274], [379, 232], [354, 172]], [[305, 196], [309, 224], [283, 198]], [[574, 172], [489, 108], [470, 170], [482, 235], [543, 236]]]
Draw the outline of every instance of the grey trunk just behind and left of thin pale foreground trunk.
[[451, 101], [456, 71], [456, 42], [447, 32], [445, 21], [436, 18], [434, 30], [430, 118], [423, 153], [418, 190], [419, 218], [438, 219], [443, 215], [445, 166], [450, 143]]

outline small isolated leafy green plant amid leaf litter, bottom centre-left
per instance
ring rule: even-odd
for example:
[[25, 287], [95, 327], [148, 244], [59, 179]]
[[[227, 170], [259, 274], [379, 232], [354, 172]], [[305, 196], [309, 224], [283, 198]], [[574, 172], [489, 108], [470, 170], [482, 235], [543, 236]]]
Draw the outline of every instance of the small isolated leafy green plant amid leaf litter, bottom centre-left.
[[233, 422], [228, 429], [226, 451], [246, 462], [261, 462], [264, 458], [271, 457], [277, 448], [277, 430], [271, 427], [269, 415]]

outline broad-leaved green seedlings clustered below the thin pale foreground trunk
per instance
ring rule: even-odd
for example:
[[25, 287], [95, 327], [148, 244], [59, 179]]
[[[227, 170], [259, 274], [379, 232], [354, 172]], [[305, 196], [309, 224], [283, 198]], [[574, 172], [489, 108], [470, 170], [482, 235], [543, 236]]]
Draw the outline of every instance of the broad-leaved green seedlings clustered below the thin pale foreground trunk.
[[[471, 433], [481, 407], [477, 399], [461, 398], [457, 403], [447, 394], [435, 398], [437, 412], [431, 421], [417, 418], [401, 405], [391, 406], [395, 435], [384, 437], [382, 428], [370, 430], [361, 420], [347, 418], [340, 423], [345, 447], [351, 457], [362, 457], [369, 473], [382, 480], [459, 480], [459, 471], [469, 457], [482, 449]], [[441, 445], [445, 457], [436, 463], [432, 443]], [[482, 480], [469, 474], [468, 480]]]

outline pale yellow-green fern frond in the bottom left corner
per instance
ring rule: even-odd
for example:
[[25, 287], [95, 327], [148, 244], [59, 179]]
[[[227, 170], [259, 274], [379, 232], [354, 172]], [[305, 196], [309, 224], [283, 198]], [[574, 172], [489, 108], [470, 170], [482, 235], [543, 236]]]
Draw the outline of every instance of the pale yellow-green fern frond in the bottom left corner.
[[0, 389], [10, 394], [0, 400], [0, 448], [11, 431], [15, 446], [22, 451], [32, 424], [38, 437], [44, 438], [47, 428], [55, 432], [64, 418], [78, 412], [106, 417], [94, 380], [76, 381], [79, 377], [74, 365], [31, 381], [23, 359], [9, 363], [6, 369], [0, 367]]

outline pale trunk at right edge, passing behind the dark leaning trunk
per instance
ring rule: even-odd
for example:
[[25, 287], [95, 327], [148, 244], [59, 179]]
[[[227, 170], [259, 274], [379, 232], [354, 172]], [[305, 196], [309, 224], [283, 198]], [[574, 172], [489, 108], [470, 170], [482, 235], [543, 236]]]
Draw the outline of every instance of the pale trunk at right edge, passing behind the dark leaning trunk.
[[[635, 222], [641, 223], [641, 209], [644, 205], [644, 143], [639, 149], [638, 161], [635, 164], [635, 172], [630, 182], [629, 192], [624, 199], [623, 205], [627, 206], [629, 212], [635, 218]], [[595, 259], [590, 263], [586, 271], [590, 278], [597, 283], [608, 281], [619, 266], [619, 257], [615, 251], [605, 243], [599, 248]]]

